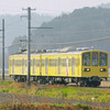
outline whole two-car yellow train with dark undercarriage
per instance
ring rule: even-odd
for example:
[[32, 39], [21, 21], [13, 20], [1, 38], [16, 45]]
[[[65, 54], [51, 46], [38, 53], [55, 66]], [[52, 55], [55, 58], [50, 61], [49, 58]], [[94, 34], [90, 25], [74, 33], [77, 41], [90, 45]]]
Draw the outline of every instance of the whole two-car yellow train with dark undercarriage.
[[[9, 74], [15, 81], [26, 80], [26, 62], [25, 53], [10, 55]], [[97, 87], [108, 75], [109, 55], [103, 51], [31, 54], [31, 78], [40, 84], [76, 82], [77, 86]]]

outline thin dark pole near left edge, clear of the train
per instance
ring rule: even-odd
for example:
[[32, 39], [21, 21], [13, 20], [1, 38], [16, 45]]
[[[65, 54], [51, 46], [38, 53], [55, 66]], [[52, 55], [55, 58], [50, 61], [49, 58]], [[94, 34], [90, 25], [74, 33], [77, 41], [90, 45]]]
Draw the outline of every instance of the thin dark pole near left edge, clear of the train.
[[2, 19], [2, 80], [4, 80], [4, 19]]

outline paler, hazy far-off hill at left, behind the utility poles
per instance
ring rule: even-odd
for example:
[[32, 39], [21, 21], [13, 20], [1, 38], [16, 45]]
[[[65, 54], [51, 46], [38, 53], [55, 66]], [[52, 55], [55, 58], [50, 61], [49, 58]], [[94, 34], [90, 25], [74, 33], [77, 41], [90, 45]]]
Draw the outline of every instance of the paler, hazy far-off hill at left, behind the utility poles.
[[[40, 15], [32, 13], [32, 25], [40, 26], [43, 22], [51, 21], [54, 16]], [[6, 44], [11, 45], [13, 40], [18, 36], [26, 35], [26, 18], [16, 15], [0, 15], [0, 29], [2, 28], [2, 19], [6, 20]]]

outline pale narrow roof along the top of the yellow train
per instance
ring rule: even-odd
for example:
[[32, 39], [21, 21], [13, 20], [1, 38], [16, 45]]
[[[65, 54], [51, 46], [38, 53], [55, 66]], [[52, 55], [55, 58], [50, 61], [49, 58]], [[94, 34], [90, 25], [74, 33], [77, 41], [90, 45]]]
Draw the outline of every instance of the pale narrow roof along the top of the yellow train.
[[[53, 52], [53, 53], [31, 53], [32, 56], [37, 56], [37, 55], [66, 55], [66, 54], [75, 54], [75, 55], [79, 55], [79, 54], [82, 54], [85, 52], [105, 52], [105, 51], [100, 51], [100, 50], [88, 50], [88, 51], [73, 51], [73, 52]], [[107, 53], [107, 52], [105, 52]], [[28, 53], [16, 53], [16, 54], [13, 54], [13, 55], [10, 55], [10, 56], [25, 56], [28, 55]]]

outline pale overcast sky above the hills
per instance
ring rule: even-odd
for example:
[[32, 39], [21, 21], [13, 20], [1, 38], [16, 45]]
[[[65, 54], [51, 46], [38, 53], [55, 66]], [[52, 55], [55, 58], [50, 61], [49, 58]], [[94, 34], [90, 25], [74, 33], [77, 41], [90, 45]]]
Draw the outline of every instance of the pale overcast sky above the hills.
[[97, 7], [110, 0], [0, 0], [0, 14], [22, 14], [22, 8], [35, 8], [37, 13], [57, 15], [82, 7]]

